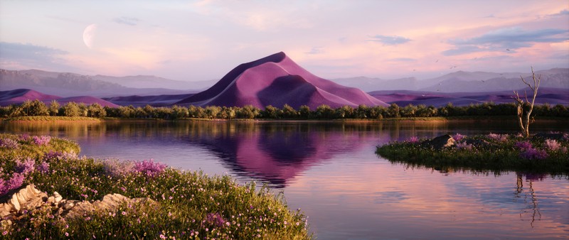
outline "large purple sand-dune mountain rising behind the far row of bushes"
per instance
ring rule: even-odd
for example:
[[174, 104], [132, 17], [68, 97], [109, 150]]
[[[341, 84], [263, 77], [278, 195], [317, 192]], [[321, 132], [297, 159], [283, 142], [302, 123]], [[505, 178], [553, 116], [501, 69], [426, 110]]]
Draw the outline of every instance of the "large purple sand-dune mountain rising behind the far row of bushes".
[[282, 52], [239, 65], [213, 87], [176, 104], [260, 108], [289, 104], [295, 109], [302, 105], [316, 109], [321, 104], [330, 107], [387, 106], [360, 89], [312, 75]]

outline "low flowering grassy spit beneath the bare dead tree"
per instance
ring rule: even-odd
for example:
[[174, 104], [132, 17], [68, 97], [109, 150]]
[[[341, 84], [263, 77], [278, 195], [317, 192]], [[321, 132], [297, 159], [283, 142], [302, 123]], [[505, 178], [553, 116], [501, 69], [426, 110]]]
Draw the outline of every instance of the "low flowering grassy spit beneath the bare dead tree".
[[521, 134], [489, 133], [479, 136], [452, 135], [453, 146], [435, 149], [416, 136], [378, 146], [376, 153], [392, 163], [410, 166], [474, 171], [523, 171], [569, 175], [569, 134], [538, 133], [529, 138]]

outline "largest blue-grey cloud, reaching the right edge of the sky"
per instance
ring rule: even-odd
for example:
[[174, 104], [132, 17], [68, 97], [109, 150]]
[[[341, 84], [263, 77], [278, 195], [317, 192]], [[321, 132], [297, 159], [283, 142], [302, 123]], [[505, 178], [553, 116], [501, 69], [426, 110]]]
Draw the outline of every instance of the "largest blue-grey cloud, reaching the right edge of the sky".
[[454, 45], [454, 48], [445, 50], [442, 54], [448, 56], [483, 51], [515, 50], [531, 47], [535, 43], [562, 43], [568, 39], [568, 36], [569, 31], [567, 29], [501, 28], [474, 38], [449, 40], [448, 43]]

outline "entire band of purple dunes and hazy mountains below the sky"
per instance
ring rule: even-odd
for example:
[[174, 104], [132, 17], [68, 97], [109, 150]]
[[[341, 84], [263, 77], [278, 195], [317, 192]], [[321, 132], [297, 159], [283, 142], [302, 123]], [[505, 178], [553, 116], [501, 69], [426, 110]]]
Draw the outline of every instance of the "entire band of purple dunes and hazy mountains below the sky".
[[[538, 103], [569, 104], [569, 68], [538, 70], [536, 74], [541, 75]], [[440, 107], [448, 102], [461, 106], [511, 102], [512, 90], [527, 87], [520, 76], [531, 81], [529, 72], [463, 71], [428, 80], [352, 77], [330, 81], [312, 75], [281, 52], [238, 65], [219, 81], [184, 82], [146, 75], [110, 77], [0, 69], [0, 105], [17, 104], [26, 99], [44, 102], [57, 99], [63, 103], [73, 100], [107, 106], [251, 104], [262, 108], [289, 104], [298, 108], [306, 104], [316, 109], [320, 104], [356, 107], [358, 104], [396, 103]]]

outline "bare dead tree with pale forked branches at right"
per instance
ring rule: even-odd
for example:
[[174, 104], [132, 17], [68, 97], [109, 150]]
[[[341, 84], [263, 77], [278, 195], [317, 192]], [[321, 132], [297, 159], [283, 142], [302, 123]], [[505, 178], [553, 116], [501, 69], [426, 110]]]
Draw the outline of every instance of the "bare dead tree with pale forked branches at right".
[[[529, 136], [529, 124], [531, 124], [531, 120], [533, 120], [533, 117], [531, 117], [531, 111], [533, 111], [533, 104], [536, 102], [536, 97], [538, 95], [538, 88], [539, 88], [539, 83], [541, 82], [541, 75], [536, 76], [536, 72], [533, 72], [533, 67], [531, 67], [531, 78], [533, 79], [533, 86], [531, 84], [529, 84], [528, 82], [526, 82], [526, 80], [523, 79], [522, 76], [521, 77], [521, 81], [528, 85], [528, 87], [533, 90], [533, 98], [531, 99], [531, 102], [528, 101], [528, 94], [527, 92], [523, 92], [524, 93], [524, 97], [525, 97], [525, 102], [524, 99], [520, 98], [520, 95], [518, 93], [518, 91], [514, 91], [514, 94], [516, 94], [516, 97], [514, 98], [514, 100], [516, 100], [516, 104], [518, 107], [518, 124], [520, 126], [521, 129], [521, 133], [523, 134], [523, 136], [528, 137]], [[524, 105], [528, 104], [528, 108], [524, 109]], [[525, 119], [523, 118], [525, 116]]]

